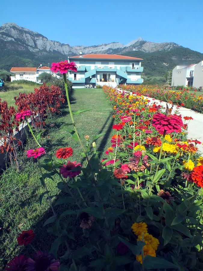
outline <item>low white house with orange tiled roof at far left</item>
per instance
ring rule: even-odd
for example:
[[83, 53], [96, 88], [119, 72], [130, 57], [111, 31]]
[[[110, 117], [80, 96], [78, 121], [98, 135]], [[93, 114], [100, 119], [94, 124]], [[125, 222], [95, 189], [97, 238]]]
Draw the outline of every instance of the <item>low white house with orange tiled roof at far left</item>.
[[39, 82], [38, 76], [41, 73], [52, 73], [49, 67], [39, 66], [38, 68], [28, 68], [28, 67], [12, 67], [11, 73], [15, 73], [15, 76], [11, 76], [11, 82], [14, 80], [28, 80], [33, 82]]

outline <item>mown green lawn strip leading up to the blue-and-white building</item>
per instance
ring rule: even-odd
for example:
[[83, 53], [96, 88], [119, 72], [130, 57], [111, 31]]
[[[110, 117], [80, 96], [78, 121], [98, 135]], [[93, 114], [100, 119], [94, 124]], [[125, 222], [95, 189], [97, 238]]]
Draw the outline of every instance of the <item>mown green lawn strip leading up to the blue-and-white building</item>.
[[[91, 108], [91, 111], [74, 116], [78, 127], [78, 132], [85, 143], [84, 135], [89, 135], [90, 139], [102, 132], [105, 136], [96, 140], [97, 148], [100, 151], [106, 150], [110, 146], [112, 136], [111, 106], [108, 104], [102, 89], [77, 89], [71, 95], [72, 111]], [[41, 141], [42, 146], [49, 152], [59, 146], [73, 148], [71, 160], [82, 161], [82, 152], [78, 142], [73, 141], [70, 134], [65, 129], [59, 129], [60, 125], [70, 122], [67, 105], [61, 110], [61, 115], [52, 116], [47, 121], [47, 129]], [[70, 126], [69, 126], [70, 127]], [[29, 139], [26, 149], [33, 148], [32, 139]], [[103, 157], [104, 155], [102, 155]], [[43, 159], [43, 158], [42, 158]], [[29, 254], [29, 248], [17, 245], [17, 235], [22, 230], [33, 229], [35, 239], [33, 245], [38, 249], [50, 249], [53, 235], [49, 235], [42, 227], [44, 221], [51, 216], [48, 202], [43, 199], [42, 206], [39, 204], [39, 195], [44, 191], [39, 181], [38, 167], [35, 161], [23, 156], [21, 163], [22, 172], [16, 173], [9, 168], [0, 177], [0, 270], [3, 265], [16, 254]], [[54, 182], [47, 179], [46, 183], [51, 195], [57, 195], [56, 188], [60, 181], [54, 176]], [[53, 198], [53, 201], [55, 198]], [[59, 205], [60, 206], [60, 205]], [[56, 208], [60, 213], [62, 207]], [[64, 207], [63, 207], [64, 208]], [[67, 208], [67, 206], [65, 206]], [[64, 210], [64, 209], [63, 209]], [[72, 246], [81, 246], [81, 240], [72, 241]]]

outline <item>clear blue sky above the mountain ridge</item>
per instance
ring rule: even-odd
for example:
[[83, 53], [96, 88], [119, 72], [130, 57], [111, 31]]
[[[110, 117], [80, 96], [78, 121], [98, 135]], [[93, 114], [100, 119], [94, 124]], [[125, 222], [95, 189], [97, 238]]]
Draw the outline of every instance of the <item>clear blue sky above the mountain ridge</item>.
[[70, 45], [142, 37], [203, 53], [202, 10], [202, 0], [10, 0], [1, 5], [0, 25], [13, 22]]

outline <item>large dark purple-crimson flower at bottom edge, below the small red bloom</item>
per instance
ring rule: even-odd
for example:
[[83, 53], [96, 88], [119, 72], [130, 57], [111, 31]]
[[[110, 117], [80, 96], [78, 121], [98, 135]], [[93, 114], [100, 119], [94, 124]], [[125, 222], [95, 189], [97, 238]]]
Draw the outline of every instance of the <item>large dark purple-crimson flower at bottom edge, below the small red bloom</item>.
[[47, 251], [36, 251], [27, 259], [26, 271], [58, 271], [60, 262]]

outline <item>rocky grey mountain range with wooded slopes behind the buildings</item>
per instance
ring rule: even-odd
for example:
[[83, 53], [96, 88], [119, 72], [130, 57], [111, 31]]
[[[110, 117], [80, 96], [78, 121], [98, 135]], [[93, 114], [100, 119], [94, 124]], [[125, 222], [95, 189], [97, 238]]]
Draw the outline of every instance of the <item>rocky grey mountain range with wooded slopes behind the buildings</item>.
[[193, 64], [203, 59], [203, 54], [174, 42], [156, 43], [138, 38], [128, 44], [112, 42], [93, 46], [70, 46], [49, 40], [15, 23], [0, 26], [0, 69], [10, 70], [13, 66], [38, 67], [39, 64], [47, 66], [48, 63], [78, 55], [80, 51], [83, 54], [122, 54], [144, 58], [144, 76], [163, 76], [177, 64]]

